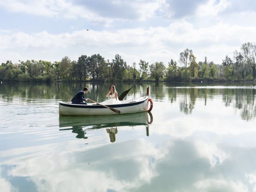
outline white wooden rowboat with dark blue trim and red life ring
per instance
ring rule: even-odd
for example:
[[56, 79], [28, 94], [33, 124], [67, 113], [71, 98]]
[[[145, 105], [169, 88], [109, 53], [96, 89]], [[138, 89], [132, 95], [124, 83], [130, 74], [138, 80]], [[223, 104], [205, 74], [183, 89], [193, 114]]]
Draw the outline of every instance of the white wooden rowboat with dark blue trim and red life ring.
[[[91, 100], [92, 101], [92, 100]], [[148, 111], [148, 102], [150, 102], [150, 110], [153, 103], [149, 98], [148, 89], [147, 95], [137, 99], [122, 100], [120, 104], [108, 104], [106, 106], [96, 102], [88, 103], [87, 105], [71, 104], [66, 102], [59, 102], [60, 116], [101, 116], [101, 115], [116, 115], [131, 114]]]

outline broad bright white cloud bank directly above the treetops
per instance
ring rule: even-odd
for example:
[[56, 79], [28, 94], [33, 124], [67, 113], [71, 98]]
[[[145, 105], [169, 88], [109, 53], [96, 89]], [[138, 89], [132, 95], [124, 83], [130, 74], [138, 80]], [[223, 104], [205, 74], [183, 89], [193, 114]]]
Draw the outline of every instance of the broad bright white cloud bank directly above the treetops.
[[171, 58], [178, 60], [179, 53], [190, 48], [197, 61], [207, 56], [208, 60], [221, 63], [226, 55], [232, 57], [234, 50], [239, 50], [242, 43], [253, 42], [255, 33], [256, 27], [218, 23], [206, 28], [195, 28], [186, 21], [173, 22], [168, 27], [116, 31], [78, 30], [60, 34], [0, 31], [0, 62], [17, 62], [24, 58], [53, 62], [64, 56], [98, 53], [106, 59], [112, 59], [114, 53], [121, 52], [128, 64], [140, 59], [167, 64]]

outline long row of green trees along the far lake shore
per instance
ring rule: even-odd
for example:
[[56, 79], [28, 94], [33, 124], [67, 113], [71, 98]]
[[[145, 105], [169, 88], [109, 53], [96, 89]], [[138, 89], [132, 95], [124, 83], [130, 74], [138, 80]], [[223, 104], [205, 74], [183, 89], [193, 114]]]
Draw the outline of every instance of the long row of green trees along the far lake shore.
[[226, 56], [222, 64], [196, 61], [191, 49], [180, 53], [178, 61], [170, 59], [149, 64], [145, 60], [130, 66], [118, 54], [106, 60], [100, 54], [81, 55], [71, 61], [65, 56], [61, 61], [27, 60], [0, 66], [0, 80], [4, 82], [52, 82], [52, 81], [166, 81], [184, 82], [195, 80], [240, 80], [255, 81], [256, 44], [244, 43], [233, 58]]

